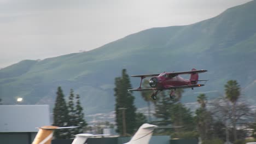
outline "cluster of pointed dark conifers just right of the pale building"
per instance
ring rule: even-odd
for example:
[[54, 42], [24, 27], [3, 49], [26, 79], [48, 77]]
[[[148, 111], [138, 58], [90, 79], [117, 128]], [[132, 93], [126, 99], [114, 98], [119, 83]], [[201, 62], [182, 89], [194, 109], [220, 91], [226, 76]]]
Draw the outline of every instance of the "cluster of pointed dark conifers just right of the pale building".
[[68, 103], [61, 87], [57, 88], [55, 106], [53, 110], [53, 125], [57, 127], [78, 127], [73, 129], [55, 130], [55, 139], [71, 139], [76, 134], [83, 133], [83, 128], [88, 124], [84, 119], [83, 107], [80, 104], [79, 94], [74, 95], [70, 90]]

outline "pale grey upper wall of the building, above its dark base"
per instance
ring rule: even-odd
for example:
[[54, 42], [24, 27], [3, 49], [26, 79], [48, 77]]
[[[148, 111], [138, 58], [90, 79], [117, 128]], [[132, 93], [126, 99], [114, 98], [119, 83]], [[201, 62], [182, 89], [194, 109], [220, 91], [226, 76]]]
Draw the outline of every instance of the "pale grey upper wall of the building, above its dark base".
[[0, 105], [0, 133], [37, 132], [50, 125], [49, 105]]

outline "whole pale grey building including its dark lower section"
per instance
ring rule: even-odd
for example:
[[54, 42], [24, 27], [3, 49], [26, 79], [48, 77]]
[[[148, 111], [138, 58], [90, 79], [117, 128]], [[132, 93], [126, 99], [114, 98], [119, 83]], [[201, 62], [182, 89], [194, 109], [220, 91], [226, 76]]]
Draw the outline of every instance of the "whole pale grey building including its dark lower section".
[[50, 125], [49, 105], [0, 105], [0, 143], [31, 144], [38, 129]]

